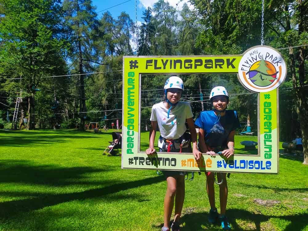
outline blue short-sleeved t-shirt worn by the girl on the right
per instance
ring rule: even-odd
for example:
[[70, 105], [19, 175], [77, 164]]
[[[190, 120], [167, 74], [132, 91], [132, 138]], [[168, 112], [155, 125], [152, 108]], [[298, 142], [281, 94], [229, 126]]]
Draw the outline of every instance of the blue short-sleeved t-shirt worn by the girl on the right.
[[224, 116], [217, 116], [212, 111], [202, 111], [195, 125], [205, 132], [205, 143], [209, 147], [227, 147], [230, 132], [241, 127], [237, 112], [226, 110]]

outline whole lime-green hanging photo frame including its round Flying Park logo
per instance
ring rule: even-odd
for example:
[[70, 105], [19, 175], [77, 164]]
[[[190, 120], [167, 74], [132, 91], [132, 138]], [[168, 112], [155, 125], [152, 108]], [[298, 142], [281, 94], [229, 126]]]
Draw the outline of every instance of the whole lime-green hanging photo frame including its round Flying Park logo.
[[[249, 91], [258, 93], [258, 155], [226, 159], [192, 153], [147, 155], [140, 147], [140, 89], [143, 74], [237, 74]], [[175, 171], [271, 173], [279, 171], [278, 87], [286, 62], [275, 49], [256, 46], [242, 55], [124, 56], [122, 168]]]

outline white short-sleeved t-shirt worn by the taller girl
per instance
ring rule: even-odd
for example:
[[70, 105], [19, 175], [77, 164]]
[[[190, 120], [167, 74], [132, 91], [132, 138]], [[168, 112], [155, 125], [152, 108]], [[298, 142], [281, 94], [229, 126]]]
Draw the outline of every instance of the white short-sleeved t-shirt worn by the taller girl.
[[160, 135], [165, 139], [178, 139], [186, 131], [186, 119], [193, 117], [192, 109], [187, 102], [179, 101], [176, 107], [168, 109], [164, 102], [156, 103], [152, 107], [151, 121], [157, 121]]

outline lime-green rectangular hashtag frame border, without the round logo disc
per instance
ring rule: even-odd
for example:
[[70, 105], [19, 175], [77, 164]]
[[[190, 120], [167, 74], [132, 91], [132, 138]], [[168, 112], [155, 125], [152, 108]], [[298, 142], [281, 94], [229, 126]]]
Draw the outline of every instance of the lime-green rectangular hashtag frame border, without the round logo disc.
[[[279, 171], [278, 88], [258, 93], [258, 155], [235, 154], [226, 159], [192, 153], [140, 152], [140, 92], [142, 74], [237, 74], [242, 55], [124, 56], [123, 169], [210, 171], [277, 174]], [[253, 91], [252, 91], [253, 92]]]

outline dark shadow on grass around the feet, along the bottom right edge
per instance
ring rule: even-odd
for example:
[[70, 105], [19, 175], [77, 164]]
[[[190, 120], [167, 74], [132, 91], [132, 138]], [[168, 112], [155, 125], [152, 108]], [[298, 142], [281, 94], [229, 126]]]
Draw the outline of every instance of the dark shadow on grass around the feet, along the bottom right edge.
[[[181, 228], [182, 231], [201, 231], [201, 230], [222, 230], [221, 224], [217, 221], [214, 224], [210, 224], [208, 219], [209, 213], [189, 213], [181, 217], [180, 222], [185, 224]], [[278, 218], [290, 222], [285, 231], [294, 231], [302, 230], [306, 227], [308, 221], [308, 213], [302, 213], [294, 216], [266, 216], [263, 214], [251, 213], [243, 209], [229, 209], [226, 213], [229, 223], [232, 227], [232, 230], [238, 231], [248, 231], [248, 230], [273, 230], [273, 224], [266, 224], [265, 222], [271, 222], [270, 219]], [[241, 224], [237, 223], [237, 219], [241, 220]], [[261, 224], [262, 223], [262, 224]], [[154, 226], [155, 228], [160, 229], [163, 224], [159, 226]]]

